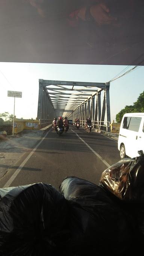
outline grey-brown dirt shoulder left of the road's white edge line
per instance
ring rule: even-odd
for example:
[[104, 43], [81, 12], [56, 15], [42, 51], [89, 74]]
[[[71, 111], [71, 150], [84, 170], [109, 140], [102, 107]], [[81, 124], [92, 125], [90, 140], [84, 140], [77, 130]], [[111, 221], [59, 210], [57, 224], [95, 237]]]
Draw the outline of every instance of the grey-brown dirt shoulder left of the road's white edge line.
[[24, 130], [0, 140], [0, 179], [43, 135], [43, 130]]

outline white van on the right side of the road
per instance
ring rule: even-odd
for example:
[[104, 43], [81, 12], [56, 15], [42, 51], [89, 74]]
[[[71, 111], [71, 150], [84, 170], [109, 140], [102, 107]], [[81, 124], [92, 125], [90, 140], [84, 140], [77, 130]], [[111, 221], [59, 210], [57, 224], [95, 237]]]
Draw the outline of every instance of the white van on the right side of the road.
[[118, 136], [120, 158], [139, 156], [138, 150], [144, 152], [144, 113], [127, 113], [123, 115]]

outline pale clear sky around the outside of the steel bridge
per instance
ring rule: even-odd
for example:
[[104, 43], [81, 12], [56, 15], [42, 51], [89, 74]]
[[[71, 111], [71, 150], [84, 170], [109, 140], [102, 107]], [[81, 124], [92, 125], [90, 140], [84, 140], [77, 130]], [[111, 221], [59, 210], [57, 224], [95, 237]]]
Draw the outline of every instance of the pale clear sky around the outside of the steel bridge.
[[[70, 65], [0, 62], [0, 113], [13, 114], [14, 98], [7, 91], [22, 91], [15, 98], [17, 118], [36, 118], [39, 79], [80, 82], [108, 82], [126, 66]], [[130, 67], [132, 68], [132, 66]], [[130, 69], [129, 68], [129, 69]], [[110, 84], [111, 122], [126, 105], [132, 105], [144, 91], [144, 67], [138, 68]], [[103, 100], [103, 99], [102, 99]]]

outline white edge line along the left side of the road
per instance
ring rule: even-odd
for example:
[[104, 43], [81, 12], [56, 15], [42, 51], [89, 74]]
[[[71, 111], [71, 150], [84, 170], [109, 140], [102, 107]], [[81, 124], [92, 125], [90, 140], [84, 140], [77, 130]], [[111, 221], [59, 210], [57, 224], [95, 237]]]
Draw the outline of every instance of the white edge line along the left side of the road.
[[41, 139], [41, 141], [36, 145], [35, 148], [30, 152], [30, 154], [27, 156], [27, 158], [21, 163], [21, 165], [18, 167], [18, 169], [13, 173], [13, 175], [10, 177], [10, 179], [6, 182], [6, 184], [3, 186], [3, 188], [8, 188], [10, 184], [13, 182], [13, 180], [17, 177], [17, 175], [20, 173], [21, 169], [24, 167], [28, 159], [33, 155], [34, 151], [39, 147], [39, 145], [42, 143], [42, 141], [45, 139], [45, 137], [48, 135], [48, 133], [51, 131], [51, 129], [46, 133], [46, 135]]

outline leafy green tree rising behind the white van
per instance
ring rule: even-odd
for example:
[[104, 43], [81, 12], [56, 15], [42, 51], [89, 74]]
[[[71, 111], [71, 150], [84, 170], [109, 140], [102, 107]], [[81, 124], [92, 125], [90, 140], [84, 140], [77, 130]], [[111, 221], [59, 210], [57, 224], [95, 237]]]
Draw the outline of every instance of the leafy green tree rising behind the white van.
[[144, 91], [139, 94], [138, 99], [133, 103], [133, 105], [125, 106], [125, 108], [121, 109], [121, 111], [116, 115], [115, 119], [117, 123], [120, 123], [124, 114], [134, 112], [144, 112]]

